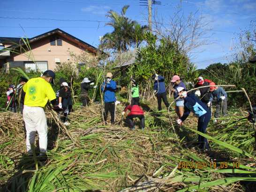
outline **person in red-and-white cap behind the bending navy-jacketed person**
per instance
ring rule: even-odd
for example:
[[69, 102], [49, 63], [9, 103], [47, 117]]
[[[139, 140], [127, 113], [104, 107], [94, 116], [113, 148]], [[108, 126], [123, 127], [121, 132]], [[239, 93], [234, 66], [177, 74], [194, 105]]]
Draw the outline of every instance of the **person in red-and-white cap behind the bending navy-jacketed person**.
[[[208, 79], [203, 79], [203, 77], [197, 78], [197, 83], [195, 85], [195, 88], [203, 87], [203, 86], [209, 86], [212, 81]], [[210, 87], [205, 87], [201, 89], [197, 89], [195, 92], [195, 95], [200, 97], [201, 101], [209, 108], [211, 109], [211, 105], [209, 106], [207, 103], [210, 101]]]

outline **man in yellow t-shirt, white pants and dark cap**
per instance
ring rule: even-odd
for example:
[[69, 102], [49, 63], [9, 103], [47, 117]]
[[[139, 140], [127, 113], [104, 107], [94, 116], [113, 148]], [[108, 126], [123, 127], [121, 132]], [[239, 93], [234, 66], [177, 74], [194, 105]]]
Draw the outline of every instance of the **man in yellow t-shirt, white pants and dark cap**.
[[56, 96], [50, 82], [54, 82], [55, 74], [47, 70], [41, 77], [30, 79], [24, 86], [26, 93], [23, 108], [23, 120], [25, 122], [27, 138], [27, 152], [31, 155], [31, 145], [35, 143], [36, 132], [39, 137], [40, 155], [47, 152], [47, 122], [45, 105], [48, 100], [56, 105]]

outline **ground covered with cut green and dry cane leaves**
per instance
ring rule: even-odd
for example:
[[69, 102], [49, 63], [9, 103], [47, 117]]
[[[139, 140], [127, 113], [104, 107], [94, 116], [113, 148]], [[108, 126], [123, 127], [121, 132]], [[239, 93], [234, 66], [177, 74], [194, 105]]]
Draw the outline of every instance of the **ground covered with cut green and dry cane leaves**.
[[[253, 191], [256, 157], [253, 126], [246, 111], [229, 110], [209, 124], [211, 151], [196, 146], [197, 119], [176, 127], [166, 110], [142, 104], [146, 127], [131, 131], [120, 116], [116, 125], [101, 122], [101, 105], [75, 106], [67, 132], [48, 117], [48, 158], [25, 153], [22, 116], [0, 112], [0, 189], [10, 192], [73, 191]], [[177, 134], [174, 133], [174, 130]], [[216, 167], [213, 167], [216, 165]], [[235, 169], [234, 169], [235, 168]]]

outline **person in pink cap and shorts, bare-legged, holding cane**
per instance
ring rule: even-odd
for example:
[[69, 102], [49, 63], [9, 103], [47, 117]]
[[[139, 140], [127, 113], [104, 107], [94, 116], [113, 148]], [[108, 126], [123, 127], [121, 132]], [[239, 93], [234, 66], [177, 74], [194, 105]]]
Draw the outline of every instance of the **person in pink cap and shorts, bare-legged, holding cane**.
[[[179, 97], [179, 92], [177, 90], [178, 87], [182, 87], [182, 88], [184, 88], [184, 90], [187, 90], [185, 84], [181, 81], [181, 78], [178, 75], [174, 75], [171, 82], [174, 83], [173, 90], [172, 90], [174, 99]], [[179, 98], [175, 101], [175, 112], [179, 118], [181, 118], [183, 116], [183, 113], [184, 113], [184, 99], [183, 98]]]

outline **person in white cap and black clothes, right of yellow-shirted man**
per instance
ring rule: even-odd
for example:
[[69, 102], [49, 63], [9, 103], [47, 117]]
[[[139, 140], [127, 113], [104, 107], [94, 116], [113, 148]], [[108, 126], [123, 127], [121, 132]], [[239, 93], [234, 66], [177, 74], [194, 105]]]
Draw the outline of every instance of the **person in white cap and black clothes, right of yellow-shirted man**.
[[68, 83], [63, 82], [61, 84], [61, 89], [59, 92], [59, 108], [63, 111], [63, 124], [65, 126], [68, 126], [69, 123], [67, 121], [68, 113], [72, 110], [72, 96], [71, 96], [71, 90], [69, 89]]

